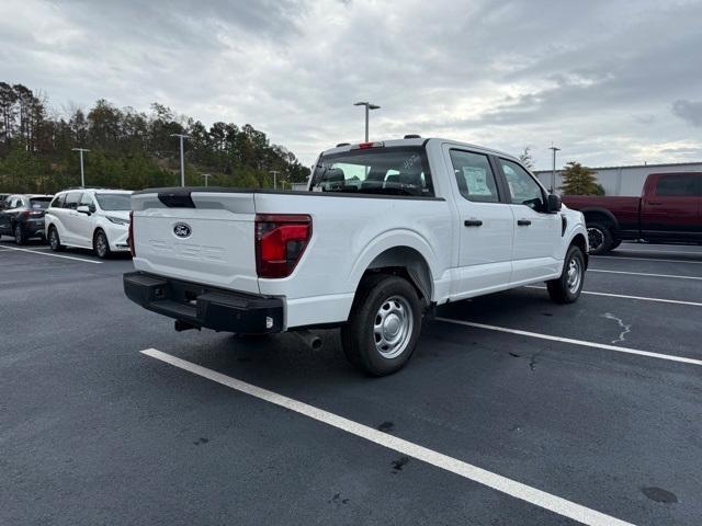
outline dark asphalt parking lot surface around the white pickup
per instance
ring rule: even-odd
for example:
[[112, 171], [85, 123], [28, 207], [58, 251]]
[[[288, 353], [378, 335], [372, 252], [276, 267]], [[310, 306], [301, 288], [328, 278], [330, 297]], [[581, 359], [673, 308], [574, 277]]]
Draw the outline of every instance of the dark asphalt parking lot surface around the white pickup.
[[588, 524], [702, 523], [702, 247], [592, 258], [570, 306], [539, 287], [445, 306], [381, 379], [335, 331], [320, 351], [176, 333], [124, 297], [128, 258], [15, 248], [0, 241], [0, 524], [577, 524], [530, 489], [604, 514]]

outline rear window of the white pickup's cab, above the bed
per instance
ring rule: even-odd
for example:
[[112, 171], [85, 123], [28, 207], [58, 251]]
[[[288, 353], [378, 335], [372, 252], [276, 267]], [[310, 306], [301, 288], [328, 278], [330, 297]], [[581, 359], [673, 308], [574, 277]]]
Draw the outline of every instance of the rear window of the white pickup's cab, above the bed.
[[421, 147], [369, 148], [321, 156], [313, 173], [312, 190], [434, 196], [427, 153]]

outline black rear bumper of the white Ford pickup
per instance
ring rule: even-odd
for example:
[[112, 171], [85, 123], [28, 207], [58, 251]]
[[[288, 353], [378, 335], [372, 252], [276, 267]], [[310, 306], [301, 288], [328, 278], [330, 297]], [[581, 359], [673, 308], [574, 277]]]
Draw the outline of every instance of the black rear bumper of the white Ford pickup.
[[281, 298], [235, 293], [144, 272], [124, 274], [135, 304], [169, 318], [215, 331], [263, 334], [284, 329]]

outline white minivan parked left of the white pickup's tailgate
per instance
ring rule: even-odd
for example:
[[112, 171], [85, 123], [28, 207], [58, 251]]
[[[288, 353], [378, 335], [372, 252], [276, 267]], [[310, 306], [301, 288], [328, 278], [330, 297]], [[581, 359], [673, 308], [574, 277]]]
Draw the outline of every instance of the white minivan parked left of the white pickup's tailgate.
[[127, 252], [129, 197], [126, 190], [82, 188], [59, 192], [46, 210], [52, 250], [92, 249], [99, 258]]

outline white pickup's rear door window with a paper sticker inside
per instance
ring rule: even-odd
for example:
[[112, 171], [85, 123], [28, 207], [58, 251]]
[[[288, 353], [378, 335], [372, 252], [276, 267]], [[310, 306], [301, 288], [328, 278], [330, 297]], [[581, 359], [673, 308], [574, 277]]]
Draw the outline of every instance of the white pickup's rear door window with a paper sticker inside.
[[451, 163], [461, 195], [478, 203], [499, 203], [495, 174], [487, 156], [451, 150]]

